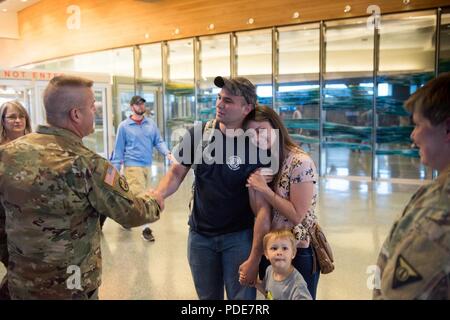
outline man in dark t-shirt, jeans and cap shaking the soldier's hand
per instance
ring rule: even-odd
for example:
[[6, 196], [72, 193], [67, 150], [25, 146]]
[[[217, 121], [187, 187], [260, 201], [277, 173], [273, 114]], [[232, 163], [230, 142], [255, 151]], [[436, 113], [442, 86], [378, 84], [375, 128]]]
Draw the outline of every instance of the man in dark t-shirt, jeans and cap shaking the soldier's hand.
[[215, 120], [184, 135], [173, 153], [179, 163], [170, 167], [155, 193], [167, 198], [194, 169], [188, 260], [197, 294], [223, 299], [225, 286], [228, 299], [255, 299], [255, 288], [239, 283], [239, 271], [249, 279], [243, 284], [256, 279], [262, 238], [270, 228], [269, 205], [245, 186], [249, 175], [264, 166], [241, 130], [256, 105], [256, 88], [242, 77], [216, 77], [214, 84], [222, 88]]

